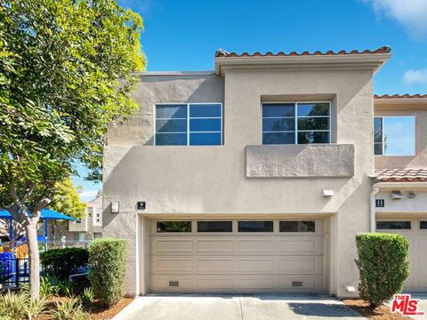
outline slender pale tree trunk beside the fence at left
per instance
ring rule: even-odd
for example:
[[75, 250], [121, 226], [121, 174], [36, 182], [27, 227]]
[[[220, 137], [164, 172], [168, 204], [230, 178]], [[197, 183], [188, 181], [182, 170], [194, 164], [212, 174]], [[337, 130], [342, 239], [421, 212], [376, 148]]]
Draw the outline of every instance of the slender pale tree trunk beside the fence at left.
[[37, 243], [37, 220], [30, 219], [26, 226], [29, 253], [29, 290], [31, 298], [35, 300], [40, 298], [40, 254]]

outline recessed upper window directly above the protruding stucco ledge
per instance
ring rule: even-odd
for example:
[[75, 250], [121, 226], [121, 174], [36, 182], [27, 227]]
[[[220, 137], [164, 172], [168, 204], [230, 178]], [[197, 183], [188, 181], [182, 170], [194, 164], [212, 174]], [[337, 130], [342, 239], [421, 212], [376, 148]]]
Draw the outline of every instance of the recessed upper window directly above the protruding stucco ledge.
[[329, 143], [329, 102], [262, 104], [262, 144]]

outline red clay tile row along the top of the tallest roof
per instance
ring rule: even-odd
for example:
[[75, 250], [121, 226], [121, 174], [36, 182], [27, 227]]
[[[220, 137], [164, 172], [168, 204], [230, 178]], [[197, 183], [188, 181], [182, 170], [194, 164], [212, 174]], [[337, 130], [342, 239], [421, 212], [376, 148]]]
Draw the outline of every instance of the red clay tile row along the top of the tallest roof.
[[342, 55], [342, 54], [375, 54], [375, 53], [390, 53], [391, 47], [388, 45], [384, 45], [381, 48], [375, 49], [375, 50], [364, 50], [363, 52], [359, 52], [359, 50], [352, 50], [350, 52], [346, 52], [345, 50], [342, 50], [340, 52], [334, 52], [332, 50], [329, 50], [328, 52], [266, 52], [266, 53], [260, 53], [260, 52], [254, 52], [254, 53], [248, 53], [243, 52], [241, 54], [238, 54], [236, 52], [226, 52], [225, 50], [218, 49], [215, 52], [215, 58], [219, 57], [286, 57], [286, 56], [319, 56], [319, 55]]

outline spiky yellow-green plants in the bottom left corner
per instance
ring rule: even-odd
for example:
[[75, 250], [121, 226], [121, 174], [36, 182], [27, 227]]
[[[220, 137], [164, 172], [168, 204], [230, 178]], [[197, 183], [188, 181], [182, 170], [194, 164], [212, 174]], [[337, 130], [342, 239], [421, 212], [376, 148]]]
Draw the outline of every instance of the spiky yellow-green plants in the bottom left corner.
[[0, 319], [31, 319], [40, 315], [46, 308], [46, 300], [34, 300], [28, 292], [7, 291], [0, 295]]

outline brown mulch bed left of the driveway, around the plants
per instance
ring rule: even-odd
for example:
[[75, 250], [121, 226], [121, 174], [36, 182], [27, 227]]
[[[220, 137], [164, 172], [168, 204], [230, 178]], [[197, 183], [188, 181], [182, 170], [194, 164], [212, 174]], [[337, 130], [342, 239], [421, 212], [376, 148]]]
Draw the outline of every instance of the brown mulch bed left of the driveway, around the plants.
[[[47, 301], [46, 312], [42, 315], [37, 316], [36, 320], [52, 320], [52, 310], [55, 309], [55, 302], [60, 300], [67, 300], [64, 297], [53, 297]], [[116, 316], [123, 308], [132, 302], [131, 298], [122, 298], [117, 304], [111, 308], [103, 308], [96, 301], [93, 303], [93, 307], [90, 310], [90, 320], [109, 320], [113, 316]]]

